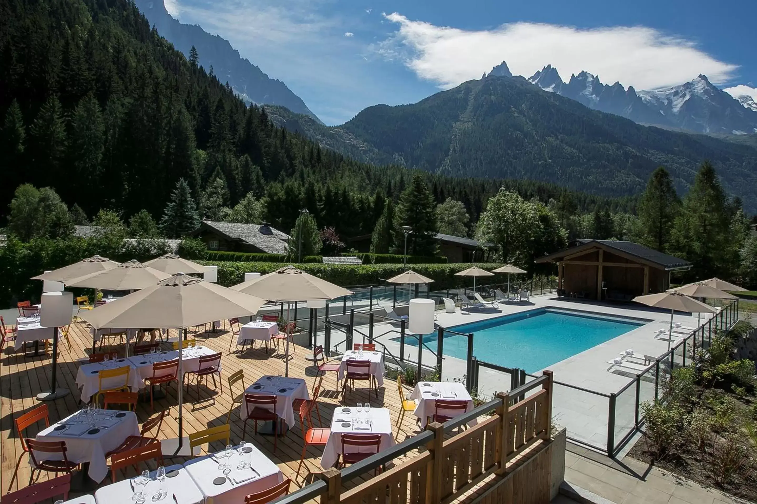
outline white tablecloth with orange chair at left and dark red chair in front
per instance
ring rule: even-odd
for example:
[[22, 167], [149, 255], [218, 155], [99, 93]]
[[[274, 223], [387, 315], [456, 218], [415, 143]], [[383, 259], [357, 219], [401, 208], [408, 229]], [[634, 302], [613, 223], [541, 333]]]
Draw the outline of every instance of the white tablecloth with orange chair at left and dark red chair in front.
[[[350, 411], [345, 412], [345, 409]], [[356, 419], [360, 419], [362, 423], [354, 422]], [[366, 419], [371, 420], [372, 424], [370, 426], [366, 424]], [[345, 422], [350, 425], [344, 427], [342, 424]], [[340, 434], [381, 434], [381, 444], [378, 446], [378, 451], [383, 451], [394, 446], [394, 435], [391, 432], [391, 418], [389, 410], [386, 408], [371, 408], [368, 413], [365, 411], [357, 413], [357, 408], [355, 407], [337, 407], [334, 410], [331, 431], [329, 441], [326, 442], [326, 447], [323, 448], [323, 456], [321, 457], [322, 468], [332, 467], [339, 459], [339, 454], [341, 453]]]

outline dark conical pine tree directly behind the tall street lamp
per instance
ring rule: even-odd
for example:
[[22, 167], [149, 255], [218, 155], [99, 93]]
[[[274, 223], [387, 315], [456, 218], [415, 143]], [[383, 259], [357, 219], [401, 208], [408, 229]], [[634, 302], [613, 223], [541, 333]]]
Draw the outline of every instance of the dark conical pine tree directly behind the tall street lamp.
[[408, 255], [436, 255], [437, 221], [434, 196], [428, 190], [421, 175], [414, 175], [407, 189], [400, 194], [400, 203], [394, 215], [394, 250], [404, 252], [405, 236], [400, 231], [403, 226], [410, 226], [407, 237]]

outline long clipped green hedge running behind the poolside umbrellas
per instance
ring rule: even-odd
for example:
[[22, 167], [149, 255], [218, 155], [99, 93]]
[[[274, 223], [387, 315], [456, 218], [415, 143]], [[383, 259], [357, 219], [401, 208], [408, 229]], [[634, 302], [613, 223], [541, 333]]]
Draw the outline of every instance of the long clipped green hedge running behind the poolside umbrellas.
[[[232, 286], [245, 280], [245, 273], [270, 273], [282, 267], [277, 262], [232, 262], [232, 261], [198, 261], [201, 264], [218, 266], [218, 283]], [[431, 290], [452, 289], [454, 287], [472, 286], [471, 277], [456, 277], [458, 271], [472, 266], [484, 270], [493, 270], [503, 264], [494, 263], [452, 263], [452, 264], [413, 264], [413, 271], [425, 277], [433, 278]], [[402, 264], [297, 264], [302, 271], [341, 286], [359, 286], [382, 283], [404, 271]], [[506, 277], [506, 276], [505, 276]], [[501, 283], [503, 275], [487, 277], [485, 283]], [[484, 280], [478, 279], [478, 283]]]

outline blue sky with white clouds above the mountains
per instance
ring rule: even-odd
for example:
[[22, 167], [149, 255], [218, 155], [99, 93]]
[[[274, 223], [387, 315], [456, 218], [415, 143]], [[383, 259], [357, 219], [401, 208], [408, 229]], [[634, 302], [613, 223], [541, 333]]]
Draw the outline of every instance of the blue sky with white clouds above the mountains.
[[229, 39], [329, 125], [407, 104], [506, 60], [531, 76], [587, 70], [637, 90], [705, 73], [757, 100], [754, 2], [166, 0], [182, 23]]

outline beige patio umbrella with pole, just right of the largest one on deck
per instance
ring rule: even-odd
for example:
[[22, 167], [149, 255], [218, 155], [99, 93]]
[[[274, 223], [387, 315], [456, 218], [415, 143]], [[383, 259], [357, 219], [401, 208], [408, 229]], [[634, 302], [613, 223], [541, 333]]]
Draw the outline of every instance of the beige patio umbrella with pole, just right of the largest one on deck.
[[[291, 264], [265, 274], [262, 277], [238, 283], [232, 286], [231, 289], [267, 299], [268, 301], [286, 301], [287, 321], [289, 320], [289, 304], [291, 301], [308, 301], [310, 299], [329, 300], [353, 293], [351, 290], [344, 289], [344, 287], [298, 270]], [[289, 324], [287, 324], [285, 376], [289, 376], [289, 335]]]

